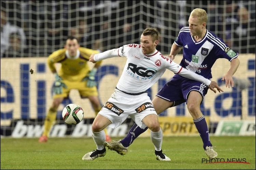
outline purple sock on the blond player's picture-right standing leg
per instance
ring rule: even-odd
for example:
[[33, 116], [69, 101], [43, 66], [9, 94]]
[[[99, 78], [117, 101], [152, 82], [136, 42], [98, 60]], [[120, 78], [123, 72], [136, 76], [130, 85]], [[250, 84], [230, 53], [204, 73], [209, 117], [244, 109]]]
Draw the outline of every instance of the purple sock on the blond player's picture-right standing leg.
[[200, 134], [200, 137], [202, 138], [203, 149], [205, 150], [206, 146], [212, 147], [208, 126], [207, 126], [204, 116], [200, 117], [199, 119], [193, 120], [193, 121], [195, 123], [198, 133]]

